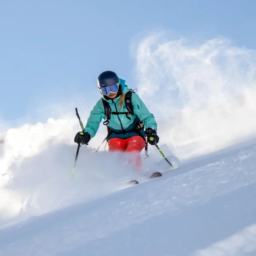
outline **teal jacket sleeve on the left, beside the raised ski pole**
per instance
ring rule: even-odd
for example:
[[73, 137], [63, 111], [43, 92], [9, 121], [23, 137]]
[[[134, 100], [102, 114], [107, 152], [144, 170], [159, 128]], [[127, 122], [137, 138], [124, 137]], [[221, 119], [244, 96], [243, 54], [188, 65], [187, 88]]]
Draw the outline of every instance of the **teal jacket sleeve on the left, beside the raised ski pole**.
[[102, 118], [105, 118], [105, 112], [102, 99], [99, 99], [93, 107], [93, 110], [90, 112], [90, 116], [87, 119], [87, 124], [84, 128], [84, 132], [88, 132], [91, 138], [93, 138], [98, 131]]

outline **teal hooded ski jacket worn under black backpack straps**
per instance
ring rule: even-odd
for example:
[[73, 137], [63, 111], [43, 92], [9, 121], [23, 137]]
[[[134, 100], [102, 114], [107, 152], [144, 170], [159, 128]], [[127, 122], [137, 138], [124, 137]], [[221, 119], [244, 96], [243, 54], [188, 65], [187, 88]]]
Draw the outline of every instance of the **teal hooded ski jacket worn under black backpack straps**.
[[[128, 86], [125, 84], [125, 80], [119, 80], [122, 86], [122, 91], [124, 93], [127, 93], [129, 89]], [[102, 99], [109, 103], [111, 111], [116, 112], [117, 108], [118, 112], [128, 112], [127, 108], [125, 107], [125, 102], [122, 108], [119, 108], [119, 98], [120, 96], [115, 99], [105, 99], [105, 97], [102, 95]], [[102, 119], [106, 119], [102, 99], [99, 99], [99, 101], [93, 107], [93, 110], [90, 112], [90, 116], [84, 128], [84, 132], [88, 132], [91, 138], [93, 138], [98, 131]], [[154, 115], [148, 111], [148, 108], [145, 106], [143, 101], [136, 93], [132, 93], [131, 103], [134, 107], [134, 115], [129, 115], [131, 120], [128, 119], [124, 114], [111, 114], [111, 119], [109, 120], [108, 127], [114, 132], [107, 138], [107, 140], [111, 138], [128, 139], [130, 137], [138, 135], [135, 131], [132, 131], [138, 121], [144, 122], [145, 128], [151, 127], [157, 131], [157, 122], [154, 119]], [[121, 133], [123, 130], [125, 131], [125, 134]], [[146, 136], [145, 131], [142, 131], [141, 133], [143, 134], [143, 136]]]

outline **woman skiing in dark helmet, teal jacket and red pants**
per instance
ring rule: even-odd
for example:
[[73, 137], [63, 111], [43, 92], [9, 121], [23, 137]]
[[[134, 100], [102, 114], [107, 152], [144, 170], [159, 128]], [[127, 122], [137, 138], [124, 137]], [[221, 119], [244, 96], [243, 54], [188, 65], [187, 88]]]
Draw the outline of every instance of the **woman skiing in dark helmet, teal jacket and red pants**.
[[159, 141], [154, 115], [116, 73], [101, 73], [98, 77], [98, 87], [102, 99], [93, 107], [84, 131], [78, 132], [74, 141], [88, 145], [98, 131], [100, 122], [105, 119], [103, 123], [108, 128], [106, 140], [109, 151], [134, 153], [135, 156], [130, 162], [133, 163], [134, 169], [140, 171], [140, 152], [145, 147], [147, 154], [147, 142], [154, 145]]

